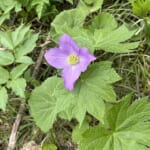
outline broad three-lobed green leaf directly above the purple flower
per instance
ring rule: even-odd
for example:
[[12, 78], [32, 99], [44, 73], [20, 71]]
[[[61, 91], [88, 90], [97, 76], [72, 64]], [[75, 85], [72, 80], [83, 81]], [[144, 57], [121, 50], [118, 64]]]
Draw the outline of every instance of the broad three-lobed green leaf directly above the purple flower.
[[130, 31], [125, 25], [117, 28], [118, 24], [111, 14], [97, 15], [92, 19], [91, 25], [85, 28], [83, 24], [86, 15], [86, 13], [82, 14], [80, 9], [64, 11], [57, 15], [51, 24], [54, 41], [57, 41], [62, 34], [67, 33], [74, 38], [79, 46], [86, 45], [91, 52], [104, 50], [125, 53], [138, 46], [139, 42], [129, 42], [135, 30]]

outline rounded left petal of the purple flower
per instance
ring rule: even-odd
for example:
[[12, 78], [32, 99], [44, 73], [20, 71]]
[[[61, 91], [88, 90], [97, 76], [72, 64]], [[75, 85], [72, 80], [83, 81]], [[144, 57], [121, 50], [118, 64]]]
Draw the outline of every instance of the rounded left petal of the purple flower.
[[67, 54], [61, 51], [59, 48], [49, 49], [46, 51], [44, 57], [48, 64], [57, 69], [62, 69], [67, 66]]

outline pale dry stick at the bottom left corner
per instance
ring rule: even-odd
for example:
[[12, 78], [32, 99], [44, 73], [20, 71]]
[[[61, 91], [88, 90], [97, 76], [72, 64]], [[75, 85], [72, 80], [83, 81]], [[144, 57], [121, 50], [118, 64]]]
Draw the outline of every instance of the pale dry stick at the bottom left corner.
[[18, 112], [16, 120], [13, 124], [7, 150], [14, 150], [14, 148], [15, 148], [16, 140], [17, 140], [17, 130], [19, 128], [19, 124], [20, 124], [20, 121], [22, 118], [22, 113], [24, 112], [24, 110], [25, 110], [25, 104], [23, 103], [20, 105], [19, 112]]

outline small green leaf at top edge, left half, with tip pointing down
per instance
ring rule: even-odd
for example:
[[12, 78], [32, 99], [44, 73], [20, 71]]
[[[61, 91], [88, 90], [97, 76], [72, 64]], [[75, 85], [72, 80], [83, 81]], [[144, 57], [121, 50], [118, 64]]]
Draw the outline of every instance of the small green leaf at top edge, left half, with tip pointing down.
[[49, 0], [32, 0], [31, 2], [31, 6], [35, 7], [39, 19], [42, 17], [47, 5], [49, 5]]

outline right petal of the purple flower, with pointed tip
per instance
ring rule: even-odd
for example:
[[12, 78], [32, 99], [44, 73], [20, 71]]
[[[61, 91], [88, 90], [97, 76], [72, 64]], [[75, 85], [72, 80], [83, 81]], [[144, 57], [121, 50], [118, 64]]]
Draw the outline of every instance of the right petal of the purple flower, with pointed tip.
[[80, 63], [78, 65], [80, 65], [80, 69], [82, 72], [84, 72], [87, 69], [88, 65], [92, 61], [96, 60], [96, 57], [89, 53], [87, 48], [80, 48], [79, 57]]

